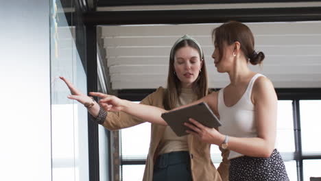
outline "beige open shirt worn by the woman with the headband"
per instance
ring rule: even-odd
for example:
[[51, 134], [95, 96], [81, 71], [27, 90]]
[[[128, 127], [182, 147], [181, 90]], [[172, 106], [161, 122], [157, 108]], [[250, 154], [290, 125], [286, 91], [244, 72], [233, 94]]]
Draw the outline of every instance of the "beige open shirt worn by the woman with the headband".
[[[164, 108], [164, 90], [165, 89], [162, 87], [158, 88], [154, 93], [145, 97], [145, 99], [143, 99], [140, 104]], [[104, 125], [104, 127], [108, 130], [119, 130], [121, 128], [132, 127], [143, 122], [145, 121], [136, 119], [136, 117], [132, 117], [130, 114], [126, 114], [125, 112], [108, 112], [106, 120], [102, 125]], [[156, 156], [158, 156], [158, 145], [165, 131], [165, 126], [163, 125], [151, 125], [152, 133], [150, 139], [150, 150], [148, 152], [146, 160], [143, 181], [152, 181], [154, 161], [156, 160]], [[198, 138], [195, 138], [192, 135], [188, 136], [187, 143], [189, 145], [191, 173], [194, 181], [228, 180], [228, 150], [221, 149], [223, 159], [219, 167], [215, 169], [210, 155], [211, 144], [203, 143], [199, 141]]]

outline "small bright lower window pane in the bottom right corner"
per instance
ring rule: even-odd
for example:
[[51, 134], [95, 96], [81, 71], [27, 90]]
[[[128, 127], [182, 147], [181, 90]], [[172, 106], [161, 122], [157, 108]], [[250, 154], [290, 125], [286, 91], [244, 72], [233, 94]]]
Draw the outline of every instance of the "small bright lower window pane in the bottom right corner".
[[310, 177], [321, 177], [321, 160], [303, 160], [304, 180], [310, 180]]

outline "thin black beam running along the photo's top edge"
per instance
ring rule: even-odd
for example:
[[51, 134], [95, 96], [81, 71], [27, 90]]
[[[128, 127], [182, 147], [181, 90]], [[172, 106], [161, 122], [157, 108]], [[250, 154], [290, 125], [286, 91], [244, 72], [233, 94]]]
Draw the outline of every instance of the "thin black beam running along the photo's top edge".
[[140, 1], [132, 1], [132, 0], [100, 0], [98, 1], [97, 6], [99, 7], [110, 7], [110, 6], [121, 6], [121, 5], [189, 5], [189, 4], [222, 4], [222, 3], [287, 3], [287, 2], [309, 2], [313, 0], [140, 0]]

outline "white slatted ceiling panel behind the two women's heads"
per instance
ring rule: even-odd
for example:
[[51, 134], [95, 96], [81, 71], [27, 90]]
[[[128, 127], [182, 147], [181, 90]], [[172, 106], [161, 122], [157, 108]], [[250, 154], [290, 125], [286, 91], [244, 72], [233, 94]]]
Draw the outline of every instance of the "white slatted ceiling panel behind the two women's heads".
[[[211, 53], [211, 31], [220, 24], [102, 26], [106, 61], [113, 89], [157, 88], [167, 80], [169, 51], [184, 34], [204, 49], [211, 88], [228, 84], [217, 73]], [[263, 65], [250, 66], [267, 75], [276, 88], [321, 87], [321, 22], [247, 23]]]

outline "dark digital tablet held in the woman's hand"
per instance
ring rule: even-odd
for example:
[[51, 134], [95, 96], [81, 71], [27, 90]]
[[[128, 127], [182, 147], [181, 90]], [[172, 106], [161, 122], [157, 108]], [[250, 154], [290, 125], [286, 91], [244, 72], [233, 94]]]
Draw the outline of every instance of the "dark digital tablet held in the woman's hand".
[[189, 118], [193, 118], [209, 128], [217, 128], [222, 125], [211, 108], [209, 108], [209, 106], [204, 102], [186, 108], [165, 112], [161, 117], [177, 136], [185, 136], [188, 134], [186, 130], [189, 130], [189, 128], [185, 126], [184, 123], [191, 123]]

